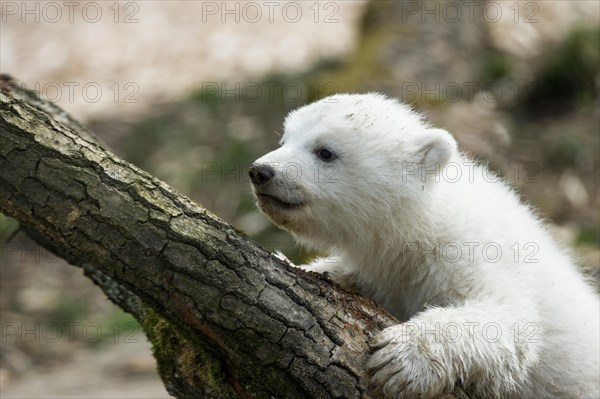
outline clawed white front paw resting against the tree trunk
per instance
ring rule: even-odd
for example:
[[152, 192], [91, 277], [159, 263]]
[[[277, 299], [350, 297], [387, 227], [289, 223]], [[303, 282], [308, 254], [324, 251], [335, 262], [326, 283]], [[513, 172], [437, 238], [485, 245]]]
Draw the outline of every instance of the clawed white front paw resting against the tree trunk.
[[399, 324], [375, 339], [367, 363], [371, 387], [385, 398], [432, 398], [449, 388], [443, 348]]

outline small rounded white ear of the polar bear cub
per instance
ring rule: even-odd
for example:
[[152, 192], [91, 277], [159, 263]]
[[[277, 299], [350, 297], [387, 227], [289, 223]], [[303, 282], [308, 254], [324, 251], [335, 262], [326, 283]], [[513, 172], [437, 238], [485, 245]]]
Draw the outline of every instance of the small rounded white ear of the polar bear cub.
[[442, 129], [427, 129], [413, 143], [413, 160], [427, 169], [443, 167], [457, 151], [454, 137]]

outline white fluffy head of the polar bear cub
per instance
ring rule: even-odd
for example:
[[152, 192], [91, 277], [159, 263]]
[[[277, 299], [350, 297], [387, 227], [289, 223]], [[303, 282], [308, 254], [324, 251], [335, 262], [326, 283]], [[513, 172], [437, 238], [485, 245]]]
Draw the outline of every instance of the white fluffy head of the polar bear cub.
[[[380, 94], [339, 94], [291, 112], [280, 147], [249, 176], [258, 206], [303, 244], [352, 245], [401, 223], [457, 152], [452, 136]], [[385, 229], [383, 229], [385, 230]]]

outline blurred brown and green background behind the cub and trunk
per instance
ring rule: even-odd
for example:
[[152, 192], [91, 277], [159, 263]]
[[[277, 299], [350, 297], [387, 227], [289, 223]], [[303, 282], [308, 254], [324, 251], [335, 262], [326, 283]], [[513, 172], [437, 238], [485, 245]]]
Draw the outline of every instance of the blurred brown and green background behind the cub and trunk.
[[[600, 270], [600, 3], [2, 1], [0, 71], [294, 261], [247, 166], [334, 92], [413, 104]], [[139, 325], [0, 215], [0, 395], [168, 397]]]

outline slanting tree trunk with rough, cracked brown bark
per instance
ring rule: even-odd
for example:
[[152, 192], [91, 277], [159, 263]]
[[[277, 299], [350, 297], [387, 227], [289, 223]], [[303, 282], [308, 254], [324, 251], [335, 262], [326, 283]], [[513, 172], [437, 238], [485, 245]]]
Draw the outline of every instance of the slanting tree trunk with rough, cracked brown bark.
[[10, 77], [0, 85], [0, 211], [141, 322], [171, 394], [370, 397], [369, 339], [397, 323], [384, 310], [278, 260]]

